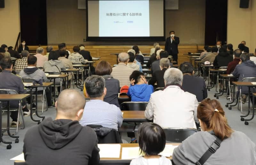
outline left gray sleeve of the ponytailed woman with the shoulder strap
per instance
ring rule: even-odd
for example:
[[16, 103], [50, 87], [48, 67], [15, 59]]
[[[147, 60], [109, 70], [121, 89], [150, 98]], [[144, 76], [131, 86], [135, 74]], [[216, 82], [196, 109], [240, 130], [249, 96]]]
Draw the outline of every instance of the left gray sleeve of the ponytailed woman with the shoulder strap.
[[183, 143], [181, 143], [178, 147], [173, 150], [172, 153], [172, 161], [174, 164], [188, 164], [188, 160], [185, 157]]

